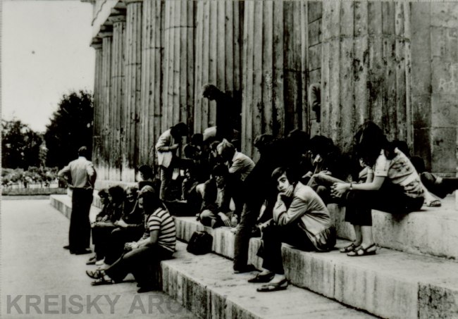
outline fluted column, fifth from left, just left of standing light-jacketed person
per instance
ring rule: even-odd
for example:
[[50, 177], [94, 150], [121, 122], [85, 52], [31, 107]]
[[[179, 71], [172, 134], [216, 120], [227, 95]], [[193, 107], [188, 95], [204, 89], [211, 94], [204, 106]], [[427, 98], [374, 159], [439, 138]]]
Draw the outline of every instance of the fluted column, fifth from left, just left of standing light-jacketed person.
[[154, 146], [161, 135], [164, 1], [143, 1], [142, 110], [140, 163], [154, 164]]

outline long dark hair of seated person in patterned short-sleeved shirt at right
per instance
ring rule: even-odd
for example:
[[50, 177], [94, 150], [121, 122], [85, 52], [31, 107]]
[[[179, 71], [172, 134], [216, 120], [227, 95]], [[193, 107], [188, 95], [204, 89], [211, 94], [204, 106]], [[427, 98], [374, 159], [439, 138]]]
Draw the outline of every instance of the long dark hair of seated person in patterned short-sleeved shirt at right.
[[376, 164], [380, 151], [385, 151], [385, 156], [394, 157], [393, 147], [388, 143], [383, 130], [371, 121], [366, 121], [359, 127], [354, 135], [354, 153], [361, 158], [366, 165]]

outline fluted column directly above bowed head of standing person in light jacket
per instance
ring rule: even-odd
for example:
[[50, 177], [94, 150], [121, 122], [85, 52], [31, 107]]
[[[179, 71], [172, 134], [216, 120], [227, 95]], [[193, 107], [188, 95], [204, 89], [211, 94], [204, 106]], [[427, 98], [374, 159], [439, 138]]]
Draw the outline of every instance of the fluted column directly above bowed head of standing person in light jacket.
[[162, 130], [194, 116], [194, 1], [165, 2]]

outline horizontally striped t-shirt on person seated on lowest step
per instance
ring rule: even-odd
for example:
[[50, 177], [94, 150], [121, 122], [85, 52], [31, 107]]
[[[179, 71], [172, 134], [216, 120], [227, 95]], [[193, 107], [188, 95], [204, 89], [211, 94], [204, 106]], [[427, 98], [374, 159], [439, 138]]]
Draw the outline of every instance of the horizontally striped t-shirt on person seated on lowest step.
[[159, 230], [157, 241], [159, 246], [172, 252], [175, 251], [175, 220], [166, 209], [158, 208], [149, 216], [148, 228], [150, 232], [152, 230]]

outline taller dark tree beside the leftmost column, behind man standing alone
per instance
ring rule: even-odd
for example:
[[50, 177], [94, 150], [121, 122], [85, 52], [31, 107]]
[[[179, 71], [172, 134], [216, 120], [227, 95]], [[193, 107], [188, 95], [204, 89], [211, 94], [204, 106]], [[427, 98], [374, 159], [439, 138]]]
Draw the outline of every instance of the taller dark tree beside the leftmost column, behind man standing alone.
[[92, 119], [92, 94], [80, 91], [63, 95], [44, 133], [47, 166], [63, 167], [76, 158], [83, 145], [91, 154]]

